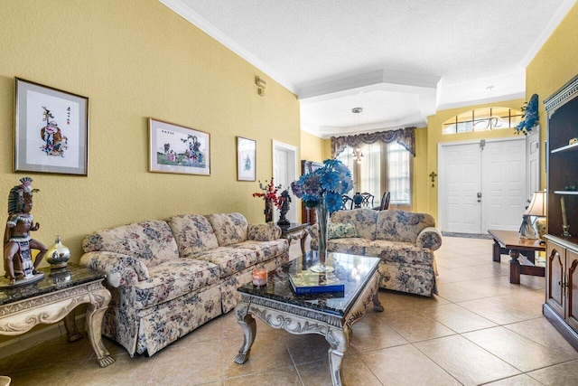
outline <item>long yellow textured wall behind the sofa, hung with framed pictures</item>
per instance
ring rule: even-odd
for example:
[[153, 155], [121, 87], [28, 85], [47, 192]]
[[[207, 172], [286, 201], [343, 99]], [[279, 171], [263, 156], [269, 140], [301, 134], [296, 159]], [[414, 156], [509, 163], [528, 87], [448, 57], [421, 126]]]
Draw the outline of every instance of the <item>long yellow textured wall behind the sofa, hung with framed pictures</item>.
[[[157, 0], [3, 0], [0, 14], [0, 202], [33, 178], [33, 237], [50, 247], [60, 234], [76, 261], [104, 227], [181, 213], [265, 220], [257, 183], [237, 181], [236, 136], [256, 139], [257, 179], [270, 178], [272, 139], [300, 145], [292, 92]], [[88, 176], [14, 173], [14, 77], [89, 98]], [[211, 175], [149, 173], [149, 117], [210, 133]]]

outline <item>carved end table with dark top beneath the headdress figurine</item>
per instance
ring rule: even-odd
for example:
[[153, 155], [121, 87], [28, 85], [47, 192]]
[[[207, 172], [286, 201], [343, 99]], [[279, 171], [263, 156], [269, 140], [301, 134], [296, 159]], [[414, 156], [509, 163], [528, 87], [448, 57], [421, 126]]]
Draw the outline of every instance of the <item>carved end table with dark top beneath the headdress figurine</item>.
[[74, 321], [74, 309], [87, 303], [87, 333], [100, 367], [115, 362], [102, 343], [102, 318], [110, 302], [110, 292], [102, 286], [105, 275], [89, 268], [69, 264], [51, 271], [41, 268], [41, 281], [0, 289], [0, 334], [18, 335], [35, 325], [64, 319], [69, 342], [82, 335]]

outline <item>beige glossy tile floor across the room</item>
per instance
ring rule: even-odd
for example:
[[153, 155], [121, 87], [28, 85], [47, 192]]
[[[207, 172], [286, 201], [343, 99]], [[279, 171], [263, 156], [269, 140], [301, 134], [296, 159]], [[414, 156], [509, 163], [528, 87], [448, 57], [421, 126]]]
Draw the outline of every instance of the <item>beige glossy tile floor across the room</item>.
[[[299, 253], [294, 243], [292, 255]], [[349, 385], [578, 385], [578, 353], [542, 316], [544, 278], [508, 282], [508, 257], [491, 259], [491, 240], [446, 237], [436, 253], [439, 296], [381, 290], [383, 313], [368, 309], [344, 357]], [[257, 320], [244, 365], [232, 313], [150, 358], [117, 359], [101, 369], [89, 339], [59, 337], [0, 358], [12, 385], [329, 385], [328, 344]], [[2, 354], [0, 353], [0, 356]]]

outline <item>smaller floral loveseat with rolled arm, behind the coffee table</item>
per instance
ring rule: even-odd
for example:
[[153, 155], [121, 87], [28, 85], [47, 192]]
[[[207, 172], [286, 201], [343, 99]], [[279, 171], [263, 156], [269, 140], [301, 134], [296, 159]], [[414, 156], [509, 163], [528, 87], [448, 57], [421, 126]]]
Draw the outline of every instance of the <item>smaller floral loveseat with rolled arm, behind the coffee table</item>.
[[[430, 297], [437, 294], [433, 251], [442, 234], [430, 214], [355, 209], [331, 215], [327, 249], [381, 259], [380, 287]], [[312, 227], [312, 249], [319, 237]]]

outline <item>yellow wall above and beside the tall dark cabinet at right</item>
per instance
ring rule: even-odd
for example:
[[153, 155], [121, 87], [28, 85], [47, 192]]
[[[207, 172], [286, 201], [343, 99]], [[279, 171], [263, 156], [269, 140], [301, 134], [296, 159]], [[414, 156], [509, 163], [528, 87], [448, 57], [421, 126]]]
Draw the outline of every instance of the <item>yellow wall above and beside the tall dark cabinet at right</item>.
[[[527, 99], [533, 94], [538, 96], [540, 127], [547, 127], [544, 100], [578, 74], [576, 42], [578, 42], [578, 5], [574, 5], [566, 14], [562, 23], [550, 35], [526, 69], [526, 95]], [[546, 140], [546, 136], [547, 131], [542, 130], [540, 133], [542, 143]], [[545, 188], [545, 153], [542, 152], [540, 157], [541, 187]]]

